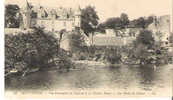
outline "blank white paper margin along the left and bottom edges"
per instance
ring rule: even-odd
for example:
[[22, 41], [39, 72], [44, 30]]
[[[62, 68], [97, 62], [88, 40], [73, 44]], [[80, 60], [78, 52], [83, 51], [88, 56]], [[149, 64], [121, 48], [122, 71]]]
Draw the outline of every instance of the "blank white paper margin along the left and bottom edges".
[[[0, 0], [0, 100], [4, 100], [4, 0]], [[26, 99], [31, 100], [31, 99]], [[41, 99], [33, 99], [41, 100]], [[46, 99], [45, 99], [46, 100]], [[57, 100], [57, 99], [47, 99]], [[69, 99], [59, 99], [69, 100]], [[81, 99], [70, 99], [81, 100]], [[171, 98], [116, 98], [116, 99], [85, 99], [85, 100], [171, 100]]]

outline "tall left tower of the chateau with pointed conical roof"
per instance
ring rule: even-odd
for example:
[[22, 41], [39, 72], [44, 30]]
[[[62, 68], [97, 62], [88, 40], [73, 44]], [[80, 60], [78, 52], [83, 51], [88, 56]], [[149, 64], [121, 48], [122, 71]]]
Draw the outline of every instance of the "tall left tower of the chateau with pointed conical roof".
[[31, 24], [31, 7], [27, 0], [25, 0], [24, 6], [22, 7], [22, 17], [23, 17], [23, 29], [30, 28]]

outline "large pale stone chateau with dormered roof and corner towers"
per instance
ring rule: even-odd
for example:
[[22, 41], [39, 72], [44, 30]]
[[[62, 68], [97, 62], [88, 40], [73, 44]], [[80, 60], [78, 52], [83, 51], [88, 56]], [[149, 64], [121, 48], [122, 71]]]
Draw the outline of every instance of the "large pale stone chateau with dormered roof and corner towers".
[[81, 8], [48, 8], [32, 6], [27, 1], [21, 8], [22, 21], [20, 28], [28, 29], [34, 26], [44, 27], [47, 31], [72, 31], [81, 26]]

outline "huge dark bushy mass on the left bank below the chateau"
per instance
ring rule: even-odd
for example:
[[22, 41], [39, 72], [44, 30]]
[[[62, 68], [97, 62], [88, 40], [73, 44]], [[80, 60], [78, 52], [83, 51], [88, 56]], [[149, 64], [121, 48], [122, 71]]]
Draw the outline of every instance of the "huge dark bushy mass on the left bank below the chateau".
[[6, 71], [14, 68], [18, 71], [28, 68], [44, 69], [51, 66], [62, 68], [65, 63], [70, 63], [65, 52], [59, 49], [57, 39], [41, 28], [28, 33], [6, 35], [5, 49]]

